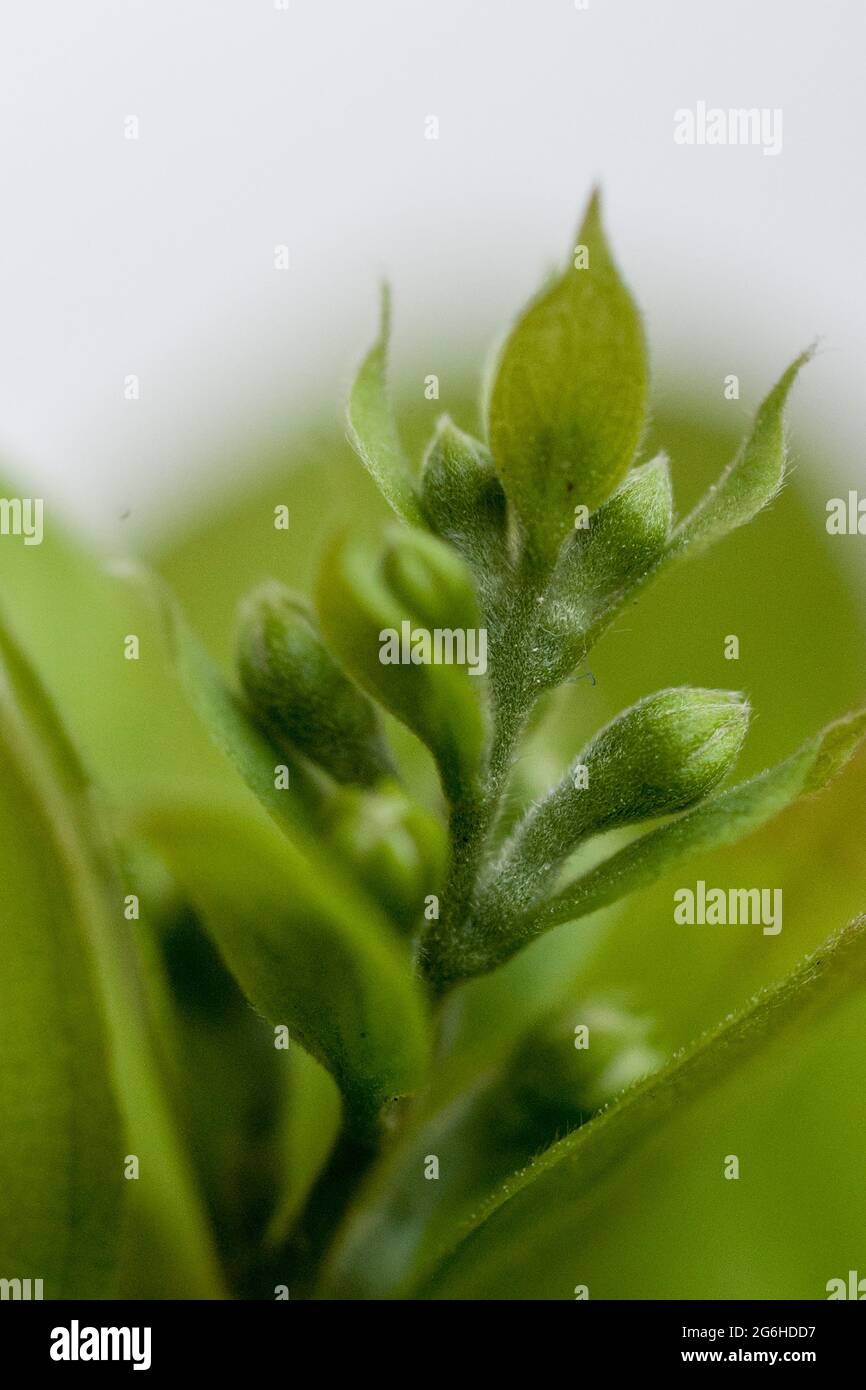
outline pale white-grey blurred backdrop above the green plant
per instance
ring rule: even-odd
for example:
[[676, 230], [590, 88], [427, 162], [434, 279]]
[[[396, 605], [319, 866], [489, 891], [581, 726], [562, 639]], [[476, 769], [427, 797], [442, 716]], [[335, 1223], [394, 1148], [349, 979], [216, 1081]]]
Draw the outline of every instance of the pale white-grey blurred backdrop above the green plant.
[[[336, 410], [384, 274], [395, 352], [445, 395], [449, 360], [566, 253], [596, 178], [662, 382], [681, 370], [716, 399], [735, 371], [745, 418], [820, 335], [794, 420], [866, 484], [862, 0], [0, 15], [0, 450], [90, 530], [175, 512], [270, 417]], [[780, 107], [781, 154], [674, 145], [699, 100]]]

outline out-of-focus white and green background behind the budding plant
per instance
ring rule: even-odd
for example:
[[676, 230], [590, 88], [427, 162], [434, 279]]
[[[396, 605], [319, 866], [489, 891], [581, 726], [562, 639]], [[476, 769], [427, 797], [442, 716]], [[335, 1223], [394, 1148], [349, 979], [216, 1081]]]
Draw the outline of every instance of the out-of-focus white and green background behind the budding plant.
[[[865, 14], [856, 0], [7, 7], [0, 452], [6, 493], [43, 495], [47, 510], [43, 546], [0, 546], [0, 585], [115, 805], [190, 780], [227, 795], [231, 776], [158, 655], [153, 614], [92, 552], [154, 562], [228, 671], [249, 587], [309, 588], [335, 525], [385, 518], [342, 416], [379, 279], [395, 289], [395, 389], [418, 459], [442, 410], [480, 428], [491, 345], [573, 245], [595, 181], [646, 314], [645, 456], [670, 452], [680, 512], [788, 361], [815, 338], [820, 352], [792, 395], [792, 484], [623, 616], [592, 655], [598, 684], [550, 702], [517, 790], [541, 791], [601, 723], [664, 685], [748, 692], [742, 774], [865, 703], [866, 542], [824, 530], [830, 496], [866, 491]], [[780, 110], [781, 152], [677, 145], [674, 111], [701, 101]], [[431, 374], [439, 400], [424, 396]], [[730, 374], [740, 399], [724, 398]], [[120, 656], [131, 631], [139, 663]], [[728, 632], [738, 663], [723, 657]], [[391, 733], [434, 805], [430, 759]], [[443, 1063], [434, 1109], [563, 1001], [624, 1004], [664, 1054], [742, 1006], [866, 908], [865, 801], [860, 756], [745, 844], [470, 986], [455, 1031], [466, 1051]], [[674, 929], [673, 887], [696, 876], [781, 887], [783, 933]], [[247, 1191], [267, 1209], [285, 1186], [250, 1118], [264, 1044], [242, 1040], [252, 1016], [232, 995], [238, 1031], [218, 1047], [222, 1024], [196, 1012], [200, 956], [186, 944], [178, 959], [190, 1148], [231, 1264], [238, 1232], [260, 1222]], [[815, 1298], [848, 1269], [866, 1276], [865, 1049], [859, 998], [641, 1152], [580, 1259], [566, 1243], [480, 1295], [570, 1297], [582, 1280], [592, 1297]], [[296, 1141], [310, 1130], [297, 1122]], [[461, 1143], [484, 1154], [471, 1126]], [[728, 1152], [740, 1183], [720, 1177]], [[418, 1205], [413, 1163], [357, 1254], [374, 1293], [395, 1251], [445, 1229], [446, 1184], [425, 1184]], [[150, 1270], [153, 1295], [182, 1293], [153, 1250], [133, 1264], [133, 1291]]]

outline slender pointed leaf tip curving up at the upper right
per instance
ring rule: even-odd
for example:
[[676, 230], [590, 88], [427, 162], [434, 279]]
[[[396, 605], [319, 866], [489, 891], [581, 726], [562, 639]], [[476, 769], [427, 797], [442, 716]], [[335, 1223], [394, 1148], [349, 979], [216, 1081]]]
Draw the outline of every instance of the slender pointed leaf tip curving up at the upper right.
[[728, 531], [745, 525], [777, 495], [785, 475], [784, 409], [801, 367], [812, 349], [796, 357], [762, 402], [742, 449], [676, 528], [671, 556], [698, 555]]

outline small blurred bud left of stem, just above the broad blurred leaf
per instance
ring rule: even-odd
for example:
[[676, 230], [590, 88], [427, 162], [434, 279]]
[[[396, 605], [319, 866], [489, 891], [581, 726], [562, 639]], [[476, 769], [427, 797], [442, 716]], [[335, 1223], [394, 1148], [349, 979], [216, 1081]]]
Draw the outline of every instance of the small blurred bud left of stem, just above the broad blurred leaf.
[[424, 899], [441, 891], [446, 860], [442, 823], [395, 783], [377, 791], [346, 788], [327, 827], [335, 848], [405, 930], [421, 920]]

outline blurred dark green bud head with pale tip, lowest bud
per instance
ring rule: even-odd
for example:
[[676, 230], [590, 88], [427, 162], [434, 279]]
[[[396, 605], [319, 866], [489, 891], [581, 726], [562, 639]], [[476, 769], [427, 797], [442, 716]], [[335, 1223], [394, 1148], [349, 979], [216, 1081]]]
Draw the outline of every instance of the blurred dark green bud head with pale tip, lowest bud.
[[662, 1066], [651, 1030], [652, 1020], [609, 1004], [570, 1009], [521, 1044], [509, 1069], [514, 1098], [553, 1131], [580, 1125]]

